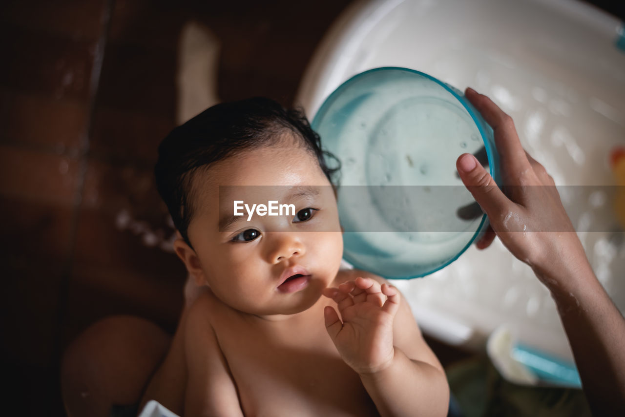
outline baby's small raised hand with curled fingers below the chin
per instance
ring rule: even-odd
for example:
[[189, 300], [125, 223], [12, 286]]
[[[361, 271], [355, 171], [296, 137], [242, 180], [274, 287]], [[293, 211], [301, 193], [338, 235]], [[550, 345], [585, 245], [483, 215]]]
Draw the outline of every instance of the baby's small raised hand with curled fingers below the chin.
[[359, 374], [375, 373], [392, 363], [394, 356], [392, 328], [399, 309], [399, 291], [371, 278], [356, 278], [326, 288], [324, 296], [338, 304], [327, 306], [326, 329], [341, 358]]

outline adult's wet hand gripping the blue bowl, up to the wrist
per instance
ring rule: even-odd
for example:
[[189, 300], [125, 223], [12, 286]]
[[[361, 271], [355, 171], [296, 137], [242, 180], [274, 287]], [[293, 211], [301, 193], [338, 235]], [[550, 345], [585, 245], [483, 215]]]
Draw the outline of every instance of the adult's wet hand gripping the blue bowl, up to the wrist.
[[510, 116], [470, 88], [466, 98], [494, 130], [504, 190], [497, 188], [474, 156], [462, 154], [458, 158], [456, 167], [462, 182], [491, 223], [477, 247], [486, 248], [497, 235], [514, 256], [532, 266], [545, 281], [587, 262], [553, 179], [524, 151]]

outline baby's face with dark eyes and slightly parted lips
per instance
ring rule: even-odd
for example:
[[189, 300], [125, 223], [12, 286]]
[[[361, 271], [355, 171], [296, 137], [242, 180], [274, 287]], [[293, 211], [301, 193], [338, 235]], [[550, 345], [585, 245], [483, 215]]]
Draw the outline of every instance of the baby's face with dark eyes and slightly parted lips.
[[[336, 198], [315, 157], [299, 144], [246, 151], [194, 178], [189, 240], [203, 279], [232, 308], [259, 316], [311, 307], [342, 257]], [[293, 204], [278, 216], [234, 216], [239, 205]], [[286, 281], [285, 281], [286, 280]]]

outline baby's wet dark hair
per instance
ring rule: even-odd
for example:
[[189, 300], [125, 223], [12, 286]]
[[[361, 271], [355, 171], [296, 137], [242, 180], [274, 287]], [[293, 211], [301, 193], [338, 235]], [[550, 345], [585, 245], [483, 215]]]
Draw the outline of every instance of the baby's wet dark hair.
[[[330, 183], [334, 183], [333, 176], [340, 168], [338, 159], [322, 151], [319, 135], [312, 131], [300, 109], [285, 109], [272, 99], [216, 104], [163, 139], [154, 167], [156, 187], [174, 226], [189, 246], [187, 229], [194, 214], [192, 179], [197, 170], [242, 151], [276, 144], [284, 140], [284, 133], [299, 139], [316, 156]], [[326, 157], [334, 159], [334, 168], [327, 166]]]

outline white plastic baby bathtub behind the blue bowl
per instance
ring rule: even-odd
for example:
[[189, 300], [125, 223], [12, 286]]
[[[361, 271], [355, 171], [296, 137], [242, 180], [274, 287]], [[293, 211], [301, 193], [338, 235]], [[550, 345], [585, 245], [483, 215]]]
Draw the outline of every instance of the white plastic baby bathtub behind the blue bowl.
[[[625, 144], [619, 36], [616, 18], [572, 0], [357, 1], [327, 33], [297, 97], [312, 119], [339, 84], [379, 66], [491, 96], [556, 180], [599, 280], [624, 311], [625, 243], [610, 190], [571, 187], [614, 184], [607, 155]], [[481, 348], [509, 324], [524, 343], [572, 358], [546, 288], [498, 241], [397, 285], [422, 329], [447, 343]]]

